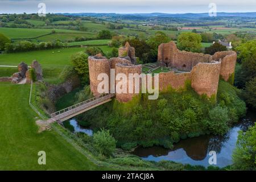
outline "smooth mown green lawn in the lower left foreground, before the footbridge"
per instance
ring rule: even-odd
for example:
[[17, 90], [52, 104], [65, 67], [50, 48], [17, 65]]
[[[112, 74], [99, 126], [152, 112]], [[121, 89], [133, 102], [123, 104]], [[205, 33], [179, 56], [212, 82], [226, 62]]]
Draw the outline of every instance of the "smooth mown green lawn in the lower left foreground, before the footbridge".
[[[0, 82], [0, 170], [91, 170], [98, 168], [55, 131], [38, 133], [28, 105], [30, 85]], [[46, 152], [46, 165], [38, 152]]]

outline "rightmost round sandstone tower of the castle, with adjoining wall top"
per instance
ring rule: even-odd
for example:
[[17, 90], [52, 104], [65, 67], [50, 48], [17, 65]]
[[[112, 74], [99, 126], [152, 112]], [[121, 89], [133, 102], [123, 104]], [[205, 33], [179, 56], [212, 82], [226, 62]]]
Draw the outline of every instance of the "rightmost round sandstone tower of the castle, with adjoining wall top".
[[229, 77], [235, 72], [237, 53], [234, 51], [216, 52], [213, 55], [213, 59], [221, 59], [220, 75], [225, 81], [228, 81]]

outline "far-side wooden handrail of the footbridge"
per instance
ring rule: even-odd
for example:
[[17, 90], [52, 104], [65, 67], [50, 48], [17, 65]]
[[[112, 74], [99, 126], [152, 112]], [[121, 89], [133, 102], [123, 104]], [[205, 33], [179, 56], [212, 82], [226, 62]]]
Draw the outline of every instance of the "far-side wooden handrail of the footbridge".
[[59, 111], [56, 111], [55, 113], [52, 113], [51, 114], [51, 117], [56, 117], [57, 115], [60, 115], [60, 114], [63, 114], [67, 111], [71, 111], [73, 109], [76, 109], [77, 107], [80, 107], [80, 106], [83, 106], [83, 105], [86, 105], [90, 102], [93, 102], [93, 101], [97, 101], [97, 100], [100, 100], [101, 98], [105, 97], [105, 96], [109, 96], [108, 98], [111, 98], [114, 96], [113, 93], [104, 93], [104, 94], [101, 94], [100, 96], [96, 96], [96, 97], [93, 97], [93, 98], [90, 98], [88, 100], [85, 100], [85, 101], [82, 101], [82, 102], [79, 102], [78, 104], [75, 104], [75, 105], [72, 105], [72, 106], [69, 106], [65, 109], [62, 109], [62, 110], [59, 110]]

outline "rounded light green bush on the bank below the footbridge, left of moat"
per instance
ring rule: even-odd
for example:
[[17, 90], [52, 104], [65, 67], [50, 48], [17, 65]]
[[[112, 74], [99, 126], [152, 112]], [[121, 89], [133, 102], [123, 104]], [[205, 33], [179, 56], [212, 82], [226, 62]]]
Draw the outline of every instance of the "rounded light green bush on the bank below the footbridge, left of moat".
[[109, 133], [109, 130], [101, 130], [93, 134], [93, 143], [100, 154], [110, 156], [115, 150], [117, 141]]

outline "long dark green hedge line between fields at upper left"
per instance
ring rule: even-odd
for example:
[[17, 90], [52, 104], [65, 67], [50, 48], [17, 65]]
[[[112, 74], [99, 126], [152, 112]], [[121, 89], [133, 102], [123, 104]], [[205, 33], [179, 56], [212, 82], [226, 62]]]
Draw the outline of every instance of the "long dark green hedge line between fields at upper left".
[[6, 43], [5, 51], [7, 53], [12, 53], [12, 52], [26, 52], [26, 51], [63, 48], [63, 47], [67, 47], [67, 44], [62, 43], [60, 41], [32, 43], [24, 40], [16, 43]]

